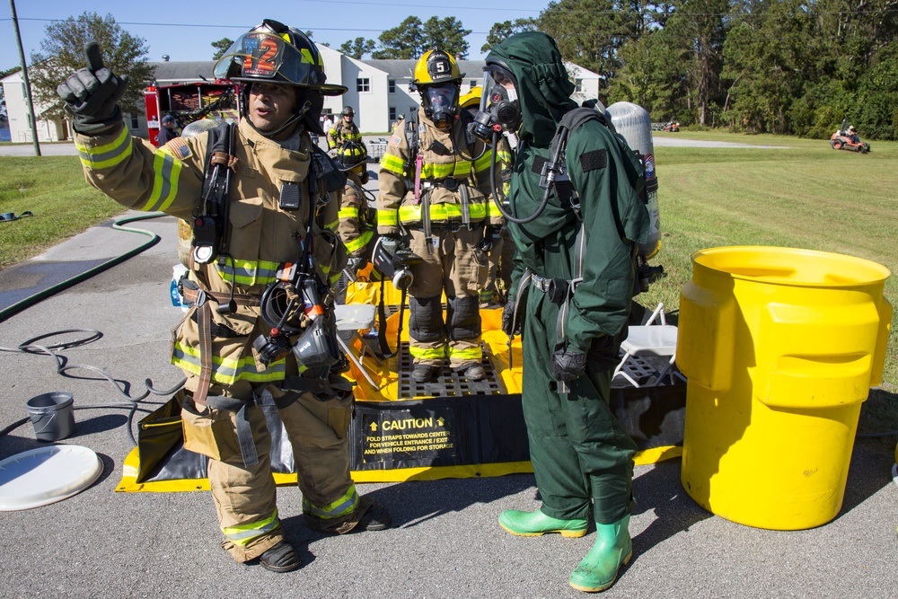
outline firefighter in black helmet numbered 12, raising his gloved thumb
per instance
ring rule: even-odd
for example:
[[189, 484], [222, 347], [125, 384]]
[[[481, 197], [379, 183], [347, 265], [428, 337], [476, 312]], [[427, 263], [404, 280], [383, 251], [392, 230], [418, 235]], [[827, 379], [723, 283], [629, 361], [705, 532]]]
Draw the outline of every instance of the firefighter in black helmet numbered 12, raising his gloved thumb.
[[[95, 43], [86, 54], [87, 68], [57, 91], [87, 181], [126, 207], [194, 226], [183, 281], [192, 307], [176, 330], [172, 364], [188, 376], [184, 444], [210, 458], [225, 551], [277, 572], [301, 565], [277, 513], [262, 404], [275, 406], [286, 427], [310, 528], [387, 528], [389, 513], [360, 498], [349, 477], [352, 395], [332, 372], [339, 354], [328, 343], [330, 286], [346, 264], [335, 232], [345, 179], [309, 132], [321, 134], [323, 96], [346, 88], [325, 83], [321, 56], [301, 31], [266, 20], [216, 63], [216, 79], [241, 86], [239, 126], [156, 150], [122, 122], [127, 79], [103, 66]], [[207, 167], [209, 147], [216, 153]], [[313, 333], [321, 343], [297, 342]]]

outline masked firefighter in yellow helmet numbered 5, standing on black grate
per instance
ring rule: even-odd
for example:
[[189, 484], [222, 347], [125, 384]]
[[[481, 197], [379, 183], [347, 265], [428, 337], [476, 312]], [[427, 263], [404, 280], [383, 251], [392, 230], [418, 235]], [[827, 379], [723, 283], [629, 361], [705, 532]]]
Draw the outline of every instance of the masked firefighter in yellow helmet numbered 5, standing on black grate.
[[384, 249], [408, 245], [424, 260], [409, 267], [409, 350], [418, 383], [429, 381], [445, 358], [468, 380], [485, 376], [478, 292], [487, 245], [501, 221], [488, 198], [490, 154], [469, 136], [471, 116], [459, 108], [462, 76], [441, 50], [420, 57], [412, 83], [422, 106], [417, 118], [402, 119], [393, 130], [379, 172], [377, 232]]

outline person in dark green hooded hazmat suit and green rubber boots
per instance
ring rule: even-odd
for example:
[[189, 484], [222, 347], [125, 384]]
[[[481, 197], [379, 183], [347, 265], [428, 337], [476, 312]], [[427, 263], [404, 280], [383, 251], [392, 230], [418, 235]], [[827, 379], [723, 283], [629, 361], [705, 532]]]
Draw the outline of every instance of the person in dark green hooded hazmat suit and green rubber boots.
[[[569, 98], [574, 84], [555, 40], [538, 31], [494, 46], [486, 63], [488, 95], [481, 106], [494, 107], [491, 125], [520, 139], [506, 199], [511, 236], [529, 277], [515, 281], [512, 296], [526, 304], [513, 322], [515, 305], [508, 303], [503, 328], [510, 334], [524, 322], [524, 418], [542, 498], [541, 509], [506, 510], [499, 524], [519, 536], [581, 537], [592, 514], [594, 547], [569, 582], [602, 591], [632, 556], [636, 445], [609, 409], [609, 396], [627, 334], [635, 251], [649, 231], [636, 189], [642, 166], [608, 124], [588, 120], [570, 130], [567, 145], [579, 207], [552, 191], [540, 213], [542, 165], [551, 159], [560, 119], [577, 108]], [[529, 222], [514, 222], [535, 213]], [[527, 278], [524, 300], [516, 295], [524, 295]]]

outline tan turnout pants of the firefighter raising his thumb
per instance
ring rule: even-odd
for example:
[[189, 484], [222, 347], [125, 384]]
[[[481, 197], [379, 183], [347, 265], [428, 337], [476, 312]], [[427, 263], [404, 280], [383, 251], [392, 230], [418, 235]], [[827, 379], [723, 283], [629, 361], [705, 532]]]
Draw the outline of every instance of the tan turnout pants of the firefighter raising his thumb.
[[[253, 392], [257, 397], [269, 392], [277, 402], [284, 403], [285, 392], [266, 384], [254, 390], [246, 382], [224, 390], [213, 386], [209, 394], [249, 399]], [[225, 534], [222, 547], [238, 562], [258, 558], [284, 538], [271, 471], [271, 435], [264, 413], [255, 402], [247, 405], [245, 417], [231, 410], [198, 411], [203, 413], [197, 416], [182, 410], [185, 446], [211, 458], [208, 478], [218, 523]], [[305, 392], [285, 407], [278, 407], [277, 412], [293, 448], [306, 522], [321, 532], [348, 532], [364, 513], [349, 476], [351, 398], [319, 401]], [[237, 418], [246, 418], [251, 427], [258, 455], [258, 463], [251, 466], [243, 464]]]

